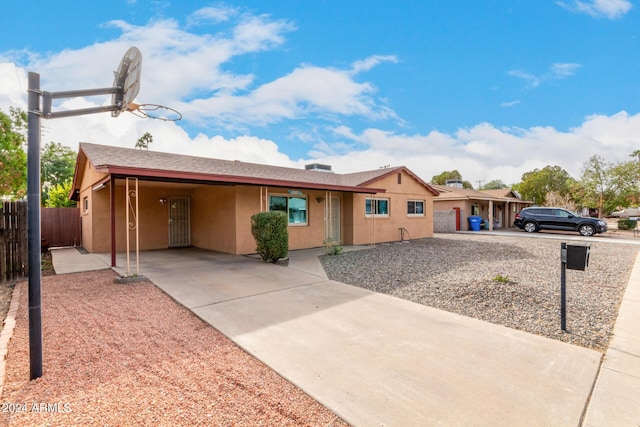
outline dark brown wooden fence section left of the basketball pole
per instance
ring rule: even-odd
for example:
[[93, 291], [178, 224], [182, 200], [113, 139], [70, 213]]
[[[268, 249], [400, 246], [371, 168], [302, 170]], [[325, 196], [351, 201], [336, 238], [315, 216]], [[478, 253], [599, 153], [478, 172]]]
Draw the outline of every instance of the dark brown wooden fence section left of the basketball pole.
[[28, 271], [27, 202], [2, 202], [0, 282], [24, 278]]

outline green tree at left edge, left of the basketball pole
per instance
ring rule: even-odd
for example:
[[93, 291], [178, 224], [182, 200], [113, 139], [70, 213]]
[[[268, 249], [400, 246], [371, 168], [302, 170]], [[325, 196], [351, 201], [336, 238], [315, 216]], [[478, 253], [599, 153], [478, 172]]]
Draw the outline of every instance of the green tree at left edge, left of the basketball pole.
[[0, 110], [0, 195], [20, 198], [27, 192], [26, 129], [27, 113]]

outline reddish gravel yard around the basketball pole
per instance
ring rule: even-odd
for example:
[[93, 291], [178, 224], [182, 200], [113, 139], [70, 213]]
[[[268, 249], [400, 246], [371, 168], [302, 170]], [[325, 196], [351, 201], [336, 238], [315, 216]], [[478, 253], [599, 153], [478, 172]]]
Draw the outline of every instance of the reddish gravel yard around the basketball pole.
[[346, 425], [151, 283], [43, 277], [44, 376], [29, 381], [27, 287], [0, 425]]

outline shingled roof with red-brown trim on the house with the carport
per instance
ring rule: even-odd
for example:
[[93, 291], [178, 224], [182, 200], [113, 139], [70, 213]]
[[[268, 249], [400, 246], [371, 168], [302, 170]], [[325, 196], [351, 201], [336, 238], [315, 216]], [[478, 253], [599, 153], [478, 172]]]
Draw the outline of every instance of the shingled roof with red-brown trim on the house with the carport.
[[[368, 185], [398, 170], [405, 170], [417, 178], [405, 167], [336, 174], [85, 142], [80, 144], [78, 151], [74, 190], [79, 188], [82, 181], [80, 175], [87, 161], [98, 172], [116, 177], [137, 176], [156, 180], [269, 185], [356, 193], [384, 193], [383, 188]], [[435, 191], [427, 184], [424, 185], [429, 191]]]

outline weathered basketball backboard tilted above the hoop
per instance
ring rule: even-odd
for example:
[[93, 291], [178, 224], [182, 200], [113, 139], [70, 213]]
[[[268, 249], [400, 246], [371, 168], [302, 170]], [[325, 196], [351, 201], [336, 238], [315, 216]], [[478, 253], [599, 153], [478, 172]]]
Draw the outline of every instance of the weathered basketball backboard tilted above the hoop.
[[142, 53], [137, 47], [131, 47], [122, 57], [118, 71], [115, 72], [113, 87], [119, 90], [111, 96], [111, 103], [119, 108], [111, 112], [118, 117], [127, 111], [140, 91], [140, 75], [142, 73]]

